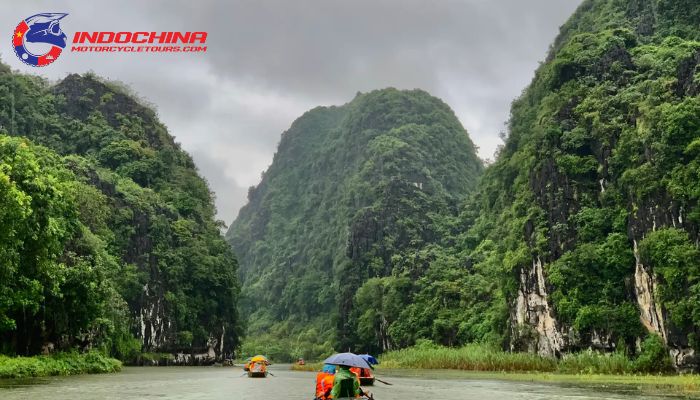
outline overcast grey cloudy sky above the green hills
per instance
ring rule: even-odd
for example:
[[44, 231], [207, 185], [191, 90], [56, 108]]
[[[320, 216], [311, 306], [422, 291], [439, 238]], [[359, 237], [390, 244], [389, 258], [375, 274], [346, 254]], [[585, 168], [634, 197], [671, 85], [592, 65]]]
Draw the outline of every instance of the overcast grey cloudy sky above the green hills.
[[[227, 224], [304, 111], [356, 92], [421, 88], [456, 112], [491, 159], [510, 102], [581, 0], [16, 1], [0, 58], [51, 80], [94, 71], [155, 104], [193, 155]], [[207, 31], [205, 54], [81, 54], [32, 68], [9, 37], [20, 20], [67, 12], [75, 31]], [[3, 35], [0, 35], [3, 37]]]

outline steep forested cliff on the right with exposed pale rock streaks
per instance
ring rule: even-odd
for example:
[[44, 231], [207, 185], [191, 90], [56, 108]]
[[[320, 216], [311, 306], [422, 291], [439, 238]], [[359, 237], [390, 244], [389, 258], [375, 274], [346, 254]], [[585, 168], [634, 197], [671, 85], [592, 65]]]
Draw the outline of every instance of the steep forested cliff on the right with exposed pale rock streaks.
[[655, 334], [698, 368], [699, 196], [681, 189], [700, 184], [698, 24], [691, 1], [584, 1], [513, 103], [483, 195], [488, 239], [518, 233], [511, 348], [634, 353]]

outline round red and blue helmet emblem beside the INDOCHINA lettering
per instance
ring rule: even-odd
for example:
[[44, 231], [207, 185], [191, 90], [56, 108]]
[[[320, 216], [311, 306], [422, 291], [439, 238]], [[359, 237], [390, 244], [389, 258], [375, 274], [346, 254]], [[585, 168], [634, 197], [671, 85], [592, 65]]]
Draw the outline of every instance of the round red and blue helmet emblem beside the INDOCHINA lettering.
[[15, 53], [23, 63], [45, 67], [56, 61], [66, 47], [60, 21], [66, 13], [41, 13], [21, 21], [12, 35]]

